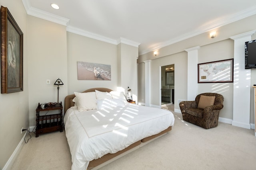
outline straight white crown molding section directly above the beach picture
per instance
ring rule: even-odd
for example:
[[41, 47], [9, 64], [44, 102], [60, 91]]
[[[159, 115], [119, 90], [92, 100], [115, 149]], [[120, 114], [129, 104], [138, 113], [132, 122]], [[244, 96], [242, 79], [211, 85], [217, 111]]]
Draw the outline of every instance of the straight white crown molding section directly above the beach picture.
[[106, 43], [110, 43], [110, 44], [114, 44], [114, 45], [118, 44], [115, 39], [104, 37], [103, 35], [92, 33], [92, 32], [89, 32], [89, 31], [85, 31], [84, 29], [80, 29], [80, 28], [73, 27], [73, 26], [70, 26], [70, 25], [67, 26], [67, 31], [72, 32], [72, 33], [76, 33], [78, 35], [83, 35], [85, 37], [97, 39], [99, 41], [104, 41]]

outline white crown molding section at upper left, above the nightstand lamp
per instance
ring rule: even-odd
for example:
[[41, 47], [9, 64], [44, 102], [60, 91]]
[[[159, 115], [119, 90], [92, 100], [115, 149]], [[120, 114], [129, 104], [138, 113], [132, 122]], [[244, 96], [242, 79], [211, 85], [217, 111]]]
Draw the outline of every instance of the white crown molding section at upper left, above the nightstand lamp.
[[25, 7], [27, 14], [30, 16], [34, 16], [34, 17], [41, 18], [44, 20], [52, 21], [54, 23], [58, 23], [58, 24], [65, 25], [65, 26], [67, 26], [70, 21], [67, 18], [60, 17], [57, 15], [51, 14], [49, 12], [45, 12], [45, 11], [39, 10], [37, 8], [31, 7], [29, 0], [22, 0], [22, 2], [23, 2], [23, 5]]

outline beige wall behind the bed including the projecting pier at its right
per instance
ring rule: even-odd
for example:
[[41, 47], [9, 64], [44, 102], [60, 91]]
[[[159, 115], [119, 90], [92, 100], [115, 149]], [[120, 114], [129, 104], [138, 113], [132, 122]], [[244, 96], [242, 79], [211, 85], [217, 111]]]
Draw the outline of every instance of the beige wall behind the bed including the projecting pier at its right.
[[[137, 96], [138, 47], [120, 43], [113, 45], [67, 32], [68, 94], [88, 88], [105, 87], [112, 90], [132, 89]], [[111, 65], [111, 80], [77, 80], [77, 61]]]

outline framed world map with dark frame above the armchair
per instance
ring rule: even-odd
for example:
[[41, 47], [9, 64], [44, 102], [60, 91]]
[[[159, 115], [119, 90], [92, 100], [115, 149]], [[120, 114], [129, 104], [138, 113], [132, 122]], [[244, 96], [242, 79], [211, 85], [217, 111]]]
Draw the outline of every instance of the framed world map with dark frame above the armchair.
[[234, 59], [198, 64], [198, 83], [233, 82]]

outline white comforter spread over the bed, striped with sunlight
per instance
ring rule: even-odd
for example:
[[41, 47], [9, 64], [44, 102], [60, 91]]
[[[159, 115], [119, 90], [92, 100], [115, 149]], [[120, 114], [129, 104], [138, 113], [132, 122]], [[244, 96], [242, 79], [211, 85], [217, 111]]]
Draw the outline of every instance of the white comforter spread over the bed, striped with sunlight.
[[127, 104], [103, 110], [67, 110], [64, 125], [72, 170], [86, 170], [91, 160], [125, 149], [174, 125], [172, 112]]

